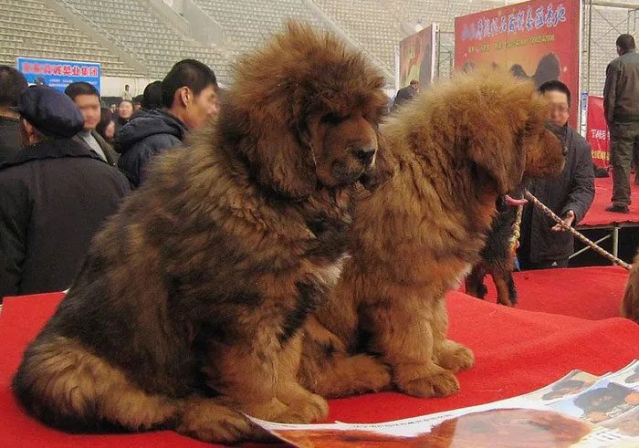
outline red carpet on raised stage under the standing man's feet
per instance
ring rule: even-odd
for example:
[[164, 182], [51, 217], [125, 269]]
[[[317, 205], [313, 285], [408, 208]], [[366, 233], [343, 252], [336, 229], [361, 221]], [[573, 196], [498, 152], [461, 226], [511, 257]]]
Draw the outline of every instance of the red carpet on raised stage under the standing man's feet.
[[[634, 181], [634, 178], [631, 180]], [[613, 178], [595, 179], [594, 201], [592, 201], [590, 210], [579, 225], [639, 223], [639, 185], [635, 185], [634, 182], [631, 182], [630, 185], [631, 199], [633, 202], [630, 206], [630, 213], [613, 214], [605, 211], [605, 208], [611, 204], [610, 199], [613, 197]]]

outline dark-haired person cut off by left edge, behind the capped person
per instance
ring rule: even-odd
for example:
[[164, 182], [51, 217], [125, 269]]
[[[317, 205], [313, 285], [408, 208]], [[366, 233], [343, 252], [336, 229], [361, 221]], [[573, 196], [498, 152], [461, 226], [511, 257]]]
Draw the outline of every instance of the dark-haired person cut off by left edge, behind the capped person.
[[14, 108], [26, 86], [25, 77], [16, 68], [0, 66], [0, 163], [12, 160], [20, 150], [20, 116]]

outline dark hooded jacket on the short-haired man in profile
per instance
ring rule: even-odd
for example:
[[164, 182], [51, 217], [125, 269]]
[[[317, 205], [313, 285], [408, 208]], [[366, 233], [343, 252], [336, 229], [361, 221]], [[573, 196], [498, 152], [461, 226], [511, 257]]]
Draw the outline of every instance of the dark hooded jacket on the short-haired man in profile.
[[141, 114], [115, 136], [115, 146], [120, 151], [118, 167], [134, 187], [139, 187], [149, 161], [163, 150], [181, 146], [185, 134], [184, 123], [165, 110]]

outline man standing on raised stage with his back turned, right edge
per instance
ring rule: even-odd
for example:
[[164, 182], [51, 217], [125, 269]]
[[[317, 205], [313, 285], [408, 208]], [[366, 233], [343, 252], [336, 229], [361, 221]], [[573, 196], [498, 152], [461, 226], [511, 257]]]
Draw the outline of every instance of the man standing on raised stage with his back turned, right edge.
[[639, 152], [639, 53], [633, 36], [617, 38], [617, 54], [619, 57], [606, 68], [603, 88], [603, 110], [610, 130], [613, 165], [613, 205], [606, 210], [627, 214], [630, 166]]

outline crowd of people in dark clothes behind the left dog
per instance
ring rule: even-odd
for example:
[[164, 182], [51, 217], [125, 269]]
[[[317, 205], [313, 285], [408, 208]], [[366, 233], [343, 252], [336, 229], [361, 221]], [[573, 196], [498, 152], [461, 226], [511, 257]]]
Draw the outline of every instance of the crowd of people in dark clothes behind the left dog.
[[68, 288], [148, 163], [217, 114], [219, 88], [211, 68], [184, 59], [134, 101], [105, 108], [87, 82], [27, 87], [0, 66], [0, 297]]

